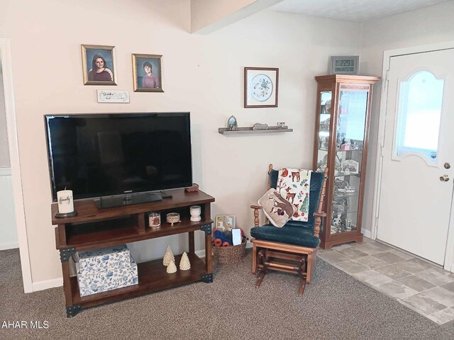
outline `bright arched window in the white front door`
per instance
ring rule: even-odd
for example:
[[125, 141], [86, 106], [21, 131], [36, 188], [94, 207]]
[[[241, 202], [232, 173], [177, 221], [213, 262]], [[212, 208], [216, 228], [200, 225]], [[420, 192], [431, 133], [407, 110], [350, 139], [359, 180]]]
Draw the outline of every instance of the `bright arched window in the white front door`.
[[394, 159], [414, 154], [436, 164], [444, 82], [428, 71], [399, 82]]

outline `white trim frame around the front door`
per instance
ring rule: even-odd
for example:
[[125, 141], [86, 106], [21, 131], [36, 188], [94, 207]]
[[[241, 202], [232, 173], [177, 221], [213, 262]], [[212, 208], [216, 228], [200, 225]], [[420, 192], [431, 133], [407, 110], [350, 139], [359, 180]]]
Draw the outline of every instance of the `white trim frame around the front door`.
[[[375, 181], [374, 181], [374, 199], [372, 203], [372, 239], [377, 239], [378, 232], [378, 214], [380, 210], [380, 189], [382, 185], [382, 148], [384, 145], [384, 128], [386, 120], [386, 109], [388, 100], [388, 74], [389, 64], [391, 57], [399, 55], [412, 55], [423, 52], [433, 52], [438, 50], [451, 50], [454, 49], [454, 40], [447, 42], [438, 42], [430, 45], [420, 45], [412, 47], [398, 48], [395, 50], [385, 50], [383, 52], [383, 68], [382, 68], [382, 94], [380, 98], [380, 112], [378, 123], [378, 137], [377, 137], [377, 154], [375, 157]], [[454, 198], [453, 198], [454, 201]], [[451, 203], [450, 220], [448, 225], [448, 239], [446, 241], [445, 263], [443, 268], [447, 271], [454, 272], [454, 204]]]

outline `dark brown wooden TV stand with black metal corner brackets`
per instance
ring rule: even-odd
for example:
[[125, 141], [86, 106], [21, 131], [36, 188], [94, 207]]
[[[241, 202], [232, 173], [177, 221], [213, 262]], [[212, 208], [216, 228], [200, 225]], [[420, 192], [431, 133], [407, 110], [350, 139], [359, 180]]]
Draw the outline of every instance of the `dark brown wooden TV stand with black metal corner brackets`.
[[[63, 288], [65, 290], [67, 317], [74, 317], [86, 307], [106, 302], [122, 300], [187, 283], [202, 281], [213, 282], [213, 263], [211, 259], [211, 208], [214, 198], [203, 191], [185, 192], [184, 189], [172, 190], [172, 198], [151, 203], [121, 205], [114, 208], [99, 209], [94, 200], [76, 200], [74, 209], [78, 215], [55, 217], [57, 203], [52, 204], [52, 225], [55, 227], [55, 243], [60, 250], [62, 262]], [[201, 206], [201, 220], [190, 220], [189, 207]], [[161, 227], [148, 227], [148, 213], [160, 212]], [[168, 212], [178, 212], [181, 222], [170, 225], [165, 222]], [[204, 232], [205, 259], [195, 254], [194, 232]], [[155, 239], [175, 234], [187, 233], [189, 244], [187, 255], [191, 262], [188, 271], [178, 270], [169, 274], [162, 265], [162, 258], [138, 263], [138, 284], [108, 290], [103, 293], [80, 296], [76, 276], [70, 276], [70, 259], [77, 251], [99, 249], [131, 242]], [[181, 255], [175, 254], [178, 266]]]

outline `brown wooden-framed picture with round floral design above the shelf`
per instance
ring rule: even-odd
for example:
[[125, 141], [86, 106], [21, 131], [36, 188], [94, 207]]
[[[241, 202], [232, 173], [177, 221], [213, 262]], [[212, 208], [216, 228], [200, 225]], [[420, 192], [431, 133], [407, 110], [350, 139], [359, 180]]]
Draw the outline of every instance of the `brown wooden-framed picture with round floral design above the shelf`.
[[277, 108], [279, 69], [270, 67], [244, 68], [244, 107]]

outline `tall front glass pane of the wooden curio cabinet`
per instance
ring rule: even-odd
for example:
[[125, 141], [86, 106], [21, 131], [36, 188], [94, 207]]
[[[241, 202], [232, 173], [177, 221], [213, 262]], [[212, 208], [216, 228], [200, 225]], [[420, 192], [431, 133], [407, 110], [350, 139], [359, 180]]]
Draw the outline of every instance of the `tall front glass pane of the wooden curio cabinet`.
[[367, 97], [368, 91], [341, 88], [338, 93], [331, 234], [351, 232], [358, 226]]

